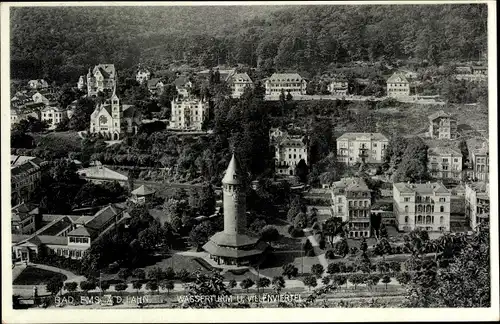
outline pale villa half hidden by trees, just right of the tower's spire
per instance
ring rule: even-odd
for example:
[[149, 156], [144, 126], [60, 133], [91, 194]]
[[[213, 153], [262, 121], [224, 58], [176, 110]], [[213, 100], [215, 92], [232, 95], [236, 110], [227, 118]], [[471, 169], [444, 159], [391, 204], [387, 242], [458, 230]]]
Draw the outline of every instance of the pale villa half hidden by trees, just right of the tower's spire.
[[272, 128], [269, 131], [269, 142], [274, 146], [274, 162], [276, 173], [295, 175], [295, 168], [301, 160], [307, 165], [307, 139], [303, 135], [291, 135], [287, 131]]

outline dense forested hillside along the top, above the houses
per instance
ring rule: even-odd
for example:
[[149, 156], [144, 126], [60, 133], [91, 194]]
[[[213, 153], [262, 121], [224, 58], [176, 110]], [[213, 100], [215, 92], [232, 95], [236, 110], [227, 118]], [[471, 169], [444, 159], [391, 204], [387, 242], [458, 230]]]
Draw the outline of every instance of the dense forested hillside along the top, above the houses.
[[477, 59], [486, 17], [484, 4], [15, 8], [12, 77], [75, 81], [98, 62], [311, 71], [356, 60]]

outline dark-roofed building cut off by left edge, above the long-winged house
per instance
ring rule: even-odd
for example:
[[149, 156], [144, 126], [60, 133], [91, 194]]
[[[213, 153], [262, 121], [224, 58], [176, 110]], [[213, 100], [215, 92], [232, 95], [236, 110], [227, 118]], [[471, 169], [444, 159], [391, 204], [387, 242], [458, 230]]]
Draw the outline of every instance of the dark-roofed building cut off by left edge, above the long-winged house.
[[35, 157], [11, 156], [11, 203], [29, 201], [42, 178], [44, 162]]

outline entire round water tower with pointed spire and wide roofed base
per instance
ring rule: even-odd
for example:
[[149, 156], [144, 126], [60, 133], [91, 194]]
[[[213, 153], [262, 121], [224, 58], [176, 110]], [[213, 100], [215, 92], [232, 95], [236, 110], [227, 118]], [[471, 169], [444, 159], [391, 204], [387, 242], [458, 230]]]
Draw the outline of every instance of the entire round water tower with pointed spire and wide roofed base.
[[224, 230], [214, 234], [203, 246], [219, 265], [250, 265], [262, 258], [268, 245], [247, 234], [247, 178], [233, 153], [224, 178]]

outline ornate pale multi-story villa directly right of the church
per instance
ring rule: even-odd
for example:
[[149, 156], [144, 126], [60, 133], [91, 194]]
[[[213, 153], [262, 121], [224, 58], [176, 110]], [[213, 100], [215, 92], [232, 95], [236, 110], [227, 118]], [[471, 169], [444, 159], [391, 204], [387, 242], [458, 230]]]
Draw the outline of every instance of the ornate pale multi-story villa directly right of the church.
[[208, 118], [209, 103], [195, 97], [172, 100], [170, 127], [184, 130], [201, 130]]

